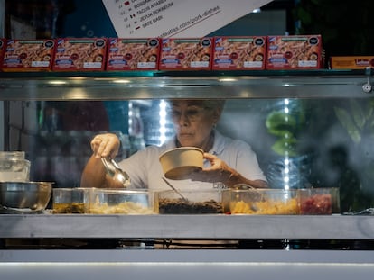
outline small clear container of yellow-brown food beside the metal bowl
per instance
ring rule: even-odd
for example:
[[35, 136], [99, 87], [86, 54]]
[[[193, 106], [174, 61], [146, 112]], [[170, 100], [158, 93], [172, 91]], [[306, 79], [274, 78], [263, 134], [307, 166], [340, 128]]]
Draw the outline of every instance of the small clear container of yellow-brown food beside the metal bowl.
[[54, 188], [53, 213], [82, 214], [89, 212], [89, 194], [91, 188]]

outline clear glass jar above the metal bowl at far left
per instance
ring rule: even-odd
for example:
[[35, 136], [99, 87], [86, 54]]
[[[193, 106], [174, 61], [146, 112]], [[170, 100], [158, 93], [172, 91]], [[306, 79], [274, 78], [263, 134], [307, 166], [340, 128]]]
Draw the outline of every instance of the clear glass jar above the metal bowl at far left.
[[0, 182], [27, 182], [30, 178], [30, 161], [24, 151], [0, 151]]

